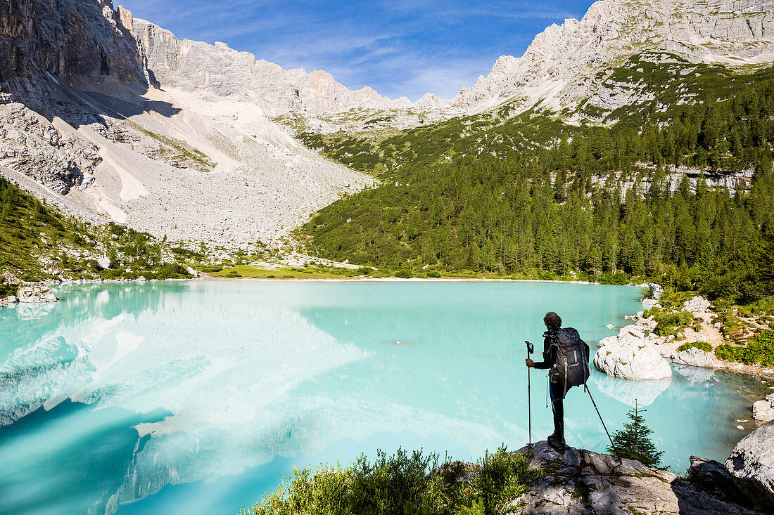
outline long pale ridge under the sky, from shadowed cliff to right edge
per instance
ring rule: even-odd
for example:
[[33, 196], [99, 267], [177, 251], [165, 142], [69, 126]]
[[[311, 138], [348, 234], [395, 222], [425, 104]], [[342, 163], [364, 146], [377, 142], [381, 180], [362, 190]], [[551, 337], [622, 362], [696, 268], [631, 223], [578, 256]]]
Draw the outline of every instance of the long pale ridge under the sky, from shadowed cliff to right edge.
[[[513, 113], [535, 105], [574, 110], [583, 101], [612, 111], [641, 100], [636, 92], [617, 94], [616, 88], [632, 85], [605, 82], [612, 69], [635, 54], [728, 66], [774, 61], [772, 8], [771, 0], [600, 0], [582, 19], [546, 28], [522, 56], [501, 56], [488, 75], [454, 98], [428, 93], [414, 103], [406, 97], [382, 97], [369, 87], [348, 90], [322, 70], [283, 70], [224, 43], [181, 41], [145, 20], [129, 19], [127, 27], [151, 76], [164, 87], [249, 101], [270, 116], [302, 114], [315, 131], [359, 131], [374, 128], [363, 111], [386, 111], [389, 119], [380, 120], [381, 126], [396, 128], [474, 114], [505, 102], [516, 107]], [[325, 116], [344, 111], [365, 122], [337, 123]]]

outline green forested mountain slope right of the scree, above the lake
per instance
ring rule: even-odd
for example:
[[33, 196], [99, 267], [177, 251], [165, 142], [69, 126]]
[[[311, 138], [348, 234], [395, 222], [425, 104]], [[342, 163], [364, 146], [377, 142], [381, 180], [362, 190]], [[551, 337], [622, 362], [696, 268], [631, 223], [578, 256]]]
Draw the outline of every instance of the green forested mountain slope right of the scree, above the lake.
[[[382, 186], [303, 227], [309, 251], [413, 271], [606, 281], [622, 272], [618, 280], [655, 278], [713, 297], [770, 295], [774, 69], [701, 70], [694, 102], [673, 101], [665, 88], [609, 127], [500, 110], [377, 142], [301, 135], [340, 162], [383, 170]], [[755, 177], [748, 192], [731, 195], [702, 176], [670, 184], [666, 168], [677, 165], [725, 176], [754, 169]]]

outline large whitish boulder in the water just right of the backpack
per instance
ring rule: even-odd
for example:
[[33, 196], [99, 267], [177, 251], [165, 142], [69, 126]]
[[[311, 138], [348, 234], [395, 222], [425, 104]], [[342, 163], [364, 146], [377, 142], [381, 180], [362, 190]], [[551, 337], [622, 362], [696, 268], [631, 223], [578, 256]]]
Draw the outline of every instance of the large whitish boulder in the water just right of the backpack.
[[670, 364], [638, 326], [626, 326], [618, 336], [601, 339], [599, 350], [594, 355], [594, 367], [620, 379], [659, 380], [672, 377]]

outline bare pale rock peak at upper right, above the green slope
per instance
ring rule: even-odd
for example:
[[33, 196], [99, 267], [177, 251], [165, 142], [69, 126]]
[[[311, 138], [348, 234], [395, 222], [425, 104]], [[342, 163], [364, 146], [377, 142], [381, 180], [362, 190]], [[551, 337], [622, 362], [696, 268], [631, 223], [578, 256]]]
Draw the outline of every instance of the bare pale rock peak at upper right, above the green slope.
[[608, 73], [600, 72], [635, 53], [650, 50], [660, 61], [676, 53], [694, 63], [774, 60], [772, 7], [772, 0], [601, 0], [582, 19], [548, 27], [521, 57], [500, 57], [452, 103], [481, 111], [512, 100], [522, 109], [540, 102], [560, 110], [589, 99], [612, 111], [639, 94], [631, 84], [603, 86]]

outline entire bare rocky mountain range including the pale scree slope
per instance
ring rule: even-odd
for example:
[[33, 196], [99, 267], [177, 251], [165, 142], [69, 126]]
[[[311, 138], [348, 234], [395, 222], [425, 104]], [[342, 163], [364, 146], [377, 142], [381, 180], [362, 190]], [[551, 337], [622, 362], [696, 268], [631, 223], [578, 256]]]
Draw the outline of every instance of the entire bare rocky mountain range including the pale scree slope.
[[110, 0], [3, 2], [0, 48], [5, 176], [82, 217], [240, 245], [286, 237], [374, 182], [304, 148], [295, 128], [405, 129], [504, 106], [510, 117], [536, 109], [611, 123], [656, 98], [647, 63], [674, 63], [680, 76], [691, 63], [768, 66], [774, 0], [601, 0], [456, 97], [415, 103], [181, 41]]

